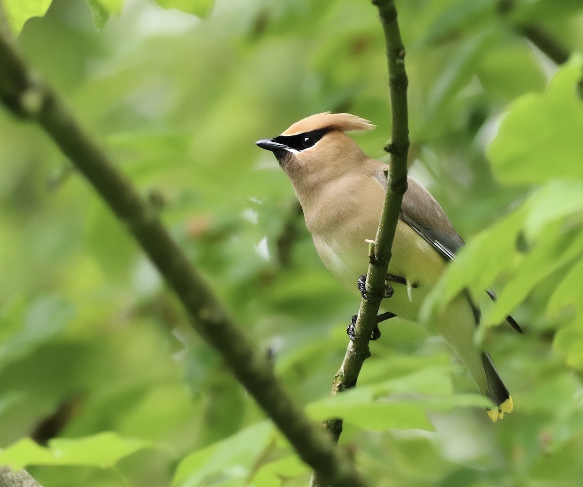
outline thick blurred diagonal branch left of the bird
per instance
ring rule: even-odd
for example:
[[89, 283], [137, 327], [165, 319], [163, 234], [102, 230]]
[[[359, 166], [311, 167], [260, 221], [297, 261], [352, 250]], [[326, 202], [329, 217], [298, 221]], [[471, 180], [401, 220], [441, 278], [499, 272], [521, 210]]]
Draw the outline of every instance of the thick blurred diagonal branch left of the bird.
[[85, 132], [59, 97], [33, 77], [8, 35], [0, 3], [0, 101], [13, 114], [37, 122], [123, 221], [188, 312], [192, 327], [223, 357], [296, 449], [300, 458], [332, 485], [364, 487], [351, 461], [336, 451], [276, 378], [269, 359], [227, 316], [131, 182]]

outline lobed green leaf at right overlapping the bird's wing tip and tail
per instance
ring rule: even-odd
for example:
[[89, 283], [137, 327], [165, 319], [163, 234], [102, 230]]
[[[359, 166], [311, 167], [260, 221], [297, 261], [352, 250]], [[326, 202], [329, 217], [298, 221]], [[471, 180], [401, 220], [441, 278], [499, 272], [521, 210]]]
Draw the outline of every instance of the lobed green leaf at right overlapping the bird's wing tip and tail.
[[[511, 271], [513, 277], [484, 315], [484, 323], [500, 323], [540, 280], [580, 255], [583, 235], [570, 226], [577, 225], [582, 215], [583, 182], [553, 181], [532, 193], [459, 252], [427, 297], [422, 320], [437, 319], [465, 289], [484, 295], [500, 274]], [[574, 218], [574, 223], [562, 223], [566, 218]], [[519, 249], [521, 241], [526, 250]]]

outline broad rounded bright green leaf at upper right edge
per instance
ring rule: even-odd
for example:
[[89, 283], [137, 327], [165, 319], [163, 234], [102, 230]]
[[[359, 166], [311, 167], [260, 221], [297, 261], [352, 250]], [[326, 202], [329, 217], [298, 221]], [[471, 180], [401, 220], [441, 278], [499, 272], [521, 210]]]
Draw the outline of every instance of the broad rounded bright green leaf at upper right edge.
[[583, 178], [583, 100], [577, 94], [582, 66], [583, 59], [574, 56], [545, 93], [526, 94], [512, 105], [488, 151], [501, 182]]

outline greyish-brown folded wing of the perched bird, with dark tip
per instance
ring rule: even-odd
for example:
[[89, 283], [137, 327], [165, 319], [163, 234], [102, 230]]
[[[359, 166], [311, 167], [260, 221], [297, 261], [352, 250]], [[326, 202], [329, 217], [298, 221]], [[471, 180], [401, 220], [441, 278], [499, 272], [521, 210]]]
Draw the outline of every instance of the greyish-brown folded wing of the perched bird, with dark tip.
[[[387, 178], [382, 169], [380, 167], [374, 177], [387, 190]], [[408, 177], [407, 182], [408, 189], [403, 195], [399, 217], [429, 242], [444, 259], [454, 260], [455, 254], [463, 246], [462, 238], [429, 191], [413, 178]], [[487, 289], [486, 292], [492, 301], [496, 301], [496, 294], [492, 290]], [[507, 316], [506, 320], [514, 330], [522, 333], [521, 327], [511, 316]]]

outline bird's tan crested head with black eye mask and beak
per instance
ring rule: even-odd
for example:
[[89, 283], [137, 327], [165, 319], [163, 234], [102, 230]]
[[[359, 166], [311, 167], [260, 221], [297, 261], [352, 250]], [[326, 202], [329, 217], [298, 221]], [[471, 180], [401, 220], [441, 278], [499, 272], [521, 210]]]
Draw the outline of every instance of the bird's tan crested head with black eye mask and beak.
[[258, 140], [257, 145], [275, 154], [297, 188], [297, 183], [307, 177], [345, 172], [359, 158], [366, 157], [345, 132], [364, 132], [374, 127], [356, 115], [324, 112], [301, 119], [273, 139]]

